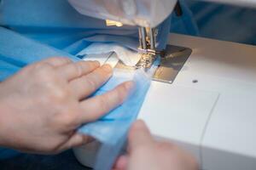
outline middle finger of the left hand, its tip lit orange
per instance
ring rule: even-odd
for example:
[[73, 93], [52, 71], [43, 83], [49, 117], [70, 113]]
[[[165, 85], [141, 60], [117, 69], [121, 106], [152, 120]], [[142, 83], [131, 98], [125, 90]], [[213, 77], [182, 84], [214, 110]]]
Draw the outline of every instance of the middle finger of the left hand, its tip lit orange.
[[84, 99], [94, 93], [112, 76], [112, 67], [110, 65], [102, 65], [95, 71], [84, 77], [77, 78], [70, 82], [70, 88], [78, 99]]

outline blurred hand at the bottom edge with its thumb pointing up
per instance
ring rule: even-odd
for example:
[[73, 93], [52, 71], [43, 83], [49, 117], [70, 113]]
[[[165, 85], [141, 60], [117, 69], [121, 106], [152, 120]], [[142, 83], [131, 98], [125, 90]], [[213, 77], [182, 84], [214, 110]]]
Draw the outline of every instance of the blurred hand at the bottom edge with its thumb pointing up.
[[197, 170], [195, 158], [177, 145], [155, 141], [142, 121], [133, 124], [128, 154], [116, 162], [115, 170]]

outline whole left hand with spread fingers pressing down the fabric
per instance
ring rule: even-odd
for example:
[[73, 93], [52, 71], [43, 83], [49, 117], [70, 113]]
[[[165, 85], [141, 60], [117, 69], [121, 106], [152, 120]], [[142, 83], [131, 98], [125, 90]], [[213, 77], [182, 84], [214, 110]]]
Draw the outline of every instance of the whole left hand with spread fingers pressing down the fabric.
[[87, 98], [111, 76], [111, 66], [96, 61], [57, 57], [26, 66], [0, 83], [0, 145], [55, 153], [86, 143], [76, 128], [120, 105], [133, 86]]

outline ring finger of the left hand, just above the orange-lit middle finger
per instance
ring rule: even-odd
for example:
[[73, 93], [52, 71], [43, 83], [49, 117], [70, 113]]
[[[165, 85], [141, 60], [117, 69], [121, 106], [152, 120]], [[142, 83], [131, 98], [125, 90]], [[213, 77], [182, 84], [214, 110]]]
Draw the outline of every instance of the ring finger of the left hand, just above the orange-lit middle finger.
[[71, 81], [94, 71], [99, 66], [100, 63], [98, 61], [79, 61], [59, 67], [57, 71], [61, 77], [64, 77], [67, 81]]

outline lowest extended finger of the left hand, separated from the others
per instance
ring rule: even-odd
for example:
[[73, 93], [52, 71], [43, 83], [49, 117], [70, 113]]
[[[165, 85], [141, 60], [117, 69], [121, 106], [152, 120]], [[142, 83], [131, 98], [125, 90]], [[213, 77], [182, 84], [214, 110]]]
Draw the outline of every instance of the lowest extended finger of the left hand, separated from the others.
[[81, 123], [95, 121], [122, 104], [133, 86], [133, 82], [124, 82], [106, 94], [82, 101], [81, 109], [86, 114], [81, 115]]

